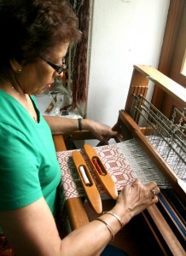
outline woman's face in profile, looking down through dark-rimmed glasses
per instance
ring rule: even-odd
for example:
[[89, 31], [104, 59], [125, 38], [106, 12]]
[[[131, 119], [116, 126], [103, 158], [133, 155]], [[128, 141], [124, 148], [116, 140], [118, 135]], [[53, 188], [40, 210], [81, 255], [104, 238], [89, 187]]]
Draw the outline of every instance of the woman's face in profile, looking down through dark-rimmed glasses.
[[62, 65], [62, 59], [67, 54], [68, 46], [68, 43], [56, 45], [49, 60], [41, 59], [35, 63], [22, 66], [21, 73], [18, 74], [16, 79], [24, 93], [42, 94], [44, 90], [49, 89], [54, 84], [57, 76], [62, 76], [62, 73], [59, 75], [46, 61]]

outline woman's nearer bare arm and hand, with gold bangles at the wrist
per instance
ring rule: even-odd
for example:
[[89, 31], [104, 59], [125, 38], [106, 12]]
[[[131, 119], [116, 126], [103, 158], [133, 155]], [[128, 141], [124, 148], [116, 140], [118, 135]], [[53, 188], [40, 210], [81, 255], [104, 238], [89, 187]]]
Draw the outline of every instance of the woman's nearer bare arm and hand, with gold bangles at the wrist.
[[[127, 224], [133, 216], [156, 203], [156, 194], [159, 192], [156, 183], [143, 185], [137, 179], [121, 191], [111, 211], [119, 216], [123, 224]], [[109, 224], [113, 235], [120, 230], [117, 218], [109, 214], [103, 214], [100, 218]], [[1, 212], [0, 226], [15, 254], [20, 256], [99, 255], [112, 238], [107, 226], [94, 220], [74, 230], [61, 241], [44, 198], [15, 211]]]

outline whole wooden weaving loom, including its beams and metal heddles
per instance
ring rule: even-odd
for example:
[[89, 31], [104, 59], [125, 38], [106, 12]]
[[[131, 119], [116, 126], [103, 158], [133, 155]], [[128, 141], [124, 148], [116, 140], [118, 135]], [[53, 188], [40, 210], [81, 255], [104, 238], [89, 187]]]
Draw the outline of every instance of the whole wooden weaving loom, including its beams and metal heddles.
[[[177, 109], [173, 111], [171, 120], [161, 115], [159, 110], [154, 108], [146, 99], [148, 86], [152, 85], [152, 81], [156, 86], [160, 86], [162, 90], [165, 90], [167, 94], [176, 98], [183, 106], [182, 112]], [[185, 255], [185, 223], [183, 215], [185, 215], [186, 196], [182, 179], [178, 178], [173, 170], [177, 169], [177, 164], [174, 166], [168, 165], [166, 159], [158, 152], [154, 142], [152, 140], [150, 142], [146, 135], [154, 135], [156, 143], [157, 137], [160, 137], [160, 141], [163, 141], [163, 143], [167, 143], [168, 146], [173, 145], [172, 148], [169, 148], [169, 151], [175, 151], [175, 143], [178, 142], [176, 155], [181, 156], [181, 160], [178, 160], [179, 162], [181, 161], [180, 169], [186, 172], [185, 108], [186, 90], [181, 85], [167, 78], [154, 67], [134, 66], [125, 110], [119, 111], [117, 124], [114, 125], [114, 128], [119, 129], [119, 137], [115, 138], [116, 142], [119, 143], [135, 137], [171, 184], [171, 190], [162, 189], [158, 205], [148, 207], [146, 211], [142, 212], [142, 217], [145, 219], [148, 229], [152, 232], [152, 236], [157, 241], [162, 255]], [[90, 138], [93, 137], [88, 131], [54, 136], [55, 149], [56, 151], [67, 150], [69, 141]], [[174, 143], [172, 143], [172, 140]], [[171, 191], [171, 194], [169, 191]], [[174, 203], [171, 203], [172, 193]], [[176, 209], [174, 208], [175, 206]], [[172, 215], [172, 212], [170, 213], [169, 211], [172, 207], [173, 212], [176, 212], [177, 218], [181, 220], [181, 228], [175, 221], [174, 214]], [[81, 198], [68, 199], [67, 211], [72, 230], [89, 222]], [[148, 237], [145, 239], [148, 241]]]

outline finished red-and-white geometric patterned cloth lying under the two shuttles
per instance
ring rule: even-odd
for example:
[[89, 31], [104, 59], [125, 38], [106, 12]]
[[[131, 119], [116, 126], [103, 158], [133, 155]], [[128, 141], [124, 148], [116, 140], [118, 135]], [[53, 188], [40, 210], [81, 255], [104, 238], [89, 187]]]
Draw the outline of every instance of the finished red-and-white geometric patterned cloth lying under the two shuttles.
[[[102, 160], [103, 165], [106, 167], [106, 170], [113, 178], [118, 191], [126, 184], [132, 183], [135, 180], [131, 166], [125, 160], [124, 154], [119, 150], [117, 144], [96, 147], [95, 150]], [[90, 167], [84, 149], [78, 149], [77, 151], [83, 155], [98, 191], [103, 194], [104, 190], [102, 189], [102, 185], [96, 180], [95, 173]], [[73, 150], [57, 152], [57, 159], [62, 172], [61, 185], [63, 186], [67, 199], [85, 195], [81, 182], [78, 180], [78, 172], [73, 164], [72, 152]]]

